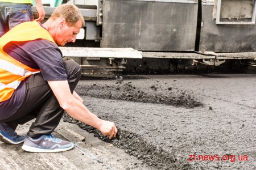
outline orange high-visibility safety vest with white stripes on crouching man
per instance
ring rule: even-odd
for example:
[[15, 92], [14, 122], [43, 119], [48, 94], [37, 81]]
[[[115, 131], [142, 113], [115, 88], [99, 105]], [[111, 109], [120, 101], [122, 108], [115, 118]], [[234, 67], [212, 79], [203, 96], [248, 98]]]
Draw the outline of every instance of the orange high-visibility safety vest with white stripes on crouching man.
[[55, 41], [38, 22], [24, 22], [17, 25], [0, 38], [0, 102], [10, 99], [20, 82], [40, 70], [31, 69], [3, 51], [10, 41], [33, 41], [45, 39]]

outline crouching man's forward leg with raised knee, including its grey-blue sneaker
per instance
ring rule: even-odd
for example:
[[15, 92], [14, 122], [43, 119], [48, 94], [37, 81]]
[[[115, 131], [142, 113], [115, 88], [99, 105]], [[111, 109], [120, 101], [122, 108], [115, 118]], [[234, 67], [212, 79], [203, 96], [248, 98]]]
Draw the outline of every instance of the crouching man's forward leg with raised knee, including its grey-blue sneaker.
[[[69, 87], [73, 92], [81, 76], [81, 67], [75, 61], [65, 61], [64, 66], [68, 74]], [[72, 142], [61, 140], [51, 134], [59, 124], [63, 113], [56, 97], [51, 95], [40, 108], [36, 121], [27, 133], [22, 149], [28, 152], [62, 152], [72, 149], [74, 147]], [[36, 138], [39, 135], [40, 137]]]

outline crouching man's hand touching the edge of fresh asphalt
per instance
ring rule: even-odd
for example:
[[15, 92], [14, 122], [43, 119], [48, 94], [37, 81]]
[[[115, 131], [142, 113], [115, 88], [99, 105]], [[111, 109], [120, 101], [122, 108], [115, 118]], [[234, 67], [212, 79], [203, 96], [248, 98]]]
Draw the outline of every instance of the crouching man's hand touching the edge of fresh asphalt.
[[113, 122], [101, 120], [100, 128], [98, 130], [101, 131], [102, 134], [108, 135], [109, 139], [116, 137], [117, 135], [117, 127]]

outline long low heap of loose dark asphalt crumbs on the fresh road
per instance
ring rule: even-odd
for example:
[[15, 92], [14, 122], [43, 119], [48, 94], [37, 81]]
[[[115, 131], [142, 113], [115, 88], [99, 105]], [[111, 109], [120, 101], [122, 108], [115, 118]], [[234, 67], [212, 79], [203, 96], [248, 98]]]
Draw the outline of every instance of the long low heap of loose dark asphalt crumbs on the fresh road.
[[[126, 77], [129, 79], [129, 76]], [[138, 76], [131, 79], [140, 79]], [[143, 79], [143, 77], [142, 77]], [[174, 80], [175, 82], [176, 80]], [[115, 76], [113, 83], [104, 84], [102, 82], [88, 84], [88, 86], [79, 86], [77, 90], [81, 95], [90, 97], [100, 97], [103, 99], [137, 101], [143, 103], [157, 103], [173, 105], [175, 107], [193, 108], [203, 104], [195, 99], [193, 91], [179, 90], [173, 87], [171, 83], [162, 84], [159, 80], [151, 82], [150, 86], [140, 87], [132, 81], [123, 82], [122, 76]]]

